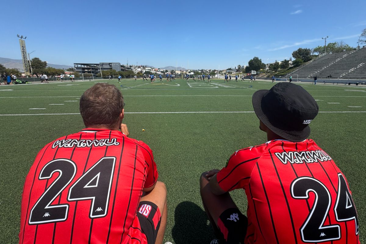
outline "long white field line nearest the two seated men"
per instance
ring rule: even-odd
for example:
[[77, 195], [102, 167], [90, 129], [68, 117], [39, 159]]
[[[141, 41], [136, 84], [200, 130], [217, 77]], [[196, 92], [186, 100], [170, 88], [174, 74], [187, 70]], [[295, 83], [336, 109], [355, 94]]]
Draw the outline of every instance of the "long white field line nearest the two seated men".
[[[129, 114], [167, 114], [167, 113], [254, 113], [254, 111], [201, 111], [201, 112], [126, 112]], [[366, 111], [321, 111], [319, 113], [366, 113]], [[29, 115], [80, 115], [80, 113], [37, 113], [37, 114], [16, 114], [0, 116], [29, 116]]]

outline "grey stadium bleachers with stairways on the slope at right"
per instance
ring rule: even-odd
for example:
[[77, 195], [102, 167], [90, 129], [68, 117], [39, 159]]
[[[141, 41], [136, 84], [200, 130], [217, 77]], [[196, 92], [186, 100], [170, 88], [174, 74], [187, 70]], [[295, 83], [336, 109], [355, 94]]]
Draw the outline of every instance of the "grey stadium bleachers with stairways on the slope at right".
[[315, 75], [318, 78], [366, 79], [366, 48], [326, 54], [290, 74], [310, 79]]

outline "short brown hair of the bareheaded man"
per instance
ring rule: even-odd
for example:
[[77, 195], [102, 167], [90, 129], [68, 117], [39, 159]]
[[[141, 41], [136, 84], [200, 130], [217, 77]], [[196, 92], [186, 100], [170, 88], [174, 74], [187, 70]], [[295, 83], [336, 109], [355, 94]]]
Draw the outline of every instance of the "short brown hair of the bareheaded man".
[[80, 98], [80, 113], [86, 127], [112, 128], [123, 109], [123, 96], [116, 86], [97, 83]]

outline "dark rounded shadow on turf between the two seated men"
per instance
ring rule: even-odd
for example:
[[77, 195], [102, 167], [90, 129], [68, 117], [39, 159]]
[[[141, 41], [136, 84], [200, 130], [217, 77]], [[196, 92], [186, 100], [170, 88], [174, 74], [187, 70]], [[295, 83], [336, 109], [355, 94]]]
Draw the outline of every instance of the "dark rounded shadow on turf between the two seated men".
[[193, 202], [181, 202], [175, 209], [172, 237], [175, 244], [205, 244], [214, 239], [205, 211]]

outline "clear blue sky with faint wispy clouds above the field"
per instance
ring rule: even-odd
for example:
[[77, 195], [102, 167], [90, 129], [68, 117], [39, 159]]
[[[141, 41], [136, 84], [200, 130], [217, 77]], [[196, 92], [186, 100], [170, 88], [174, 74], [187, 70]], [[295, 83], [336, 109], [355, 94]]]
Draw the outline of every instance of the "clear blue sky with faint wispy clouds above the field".
[[254, 56], [264, 63], [289, 59], [299, 47], [324, 45], [327, 35], [327, 42], [357, 46], [366, 28], [365, 0], [14, 0], [3, 1], [1, 12], [9, 17], [3, 19], [0, 57], [21, 58], [20, 34], [27, 36], [27, 52], [36, 50], [31, 58], [65, 65], [128, 59], [224, 69]]

